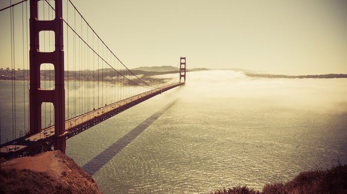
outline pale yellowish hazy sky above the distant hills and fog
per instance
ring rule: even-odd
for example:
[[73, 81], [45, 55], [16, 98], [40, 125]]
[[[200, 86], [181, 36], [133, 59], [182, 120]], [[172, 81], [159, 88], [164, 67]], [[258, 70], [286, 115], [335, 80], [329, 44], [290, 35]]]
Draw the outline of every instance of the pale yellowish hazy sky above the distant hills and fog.
[[128, 68], [347, 74], [346, 0], [71, 1]]

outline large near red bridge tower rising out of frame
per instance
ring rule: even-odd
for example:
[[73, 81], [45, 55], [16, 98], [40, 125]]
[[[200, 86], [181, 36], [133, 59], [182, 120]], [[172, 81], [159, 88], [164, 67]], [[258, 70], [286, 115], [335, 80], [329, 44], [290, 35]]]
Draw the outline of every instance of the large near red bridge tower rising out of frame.
[[[30, 133], [39, 133], [42, 126], [41, 106], [43, 102], [54, 105], [55, 144], [54, 149], [65, 153], [65, 89], [64, 89], [64, 51], [63, 51], [63, 21], [62, 0], [55, 2], [55, 18], [39, 20], [38, 2], [30, 0]], [[53, 31], [55, 49], [52, 52], [40, 50], [39, 34], [42, 31]], [[55, 89], [43, 90], [40, 83], [40, 66], [50, 63], [54, 66]]]

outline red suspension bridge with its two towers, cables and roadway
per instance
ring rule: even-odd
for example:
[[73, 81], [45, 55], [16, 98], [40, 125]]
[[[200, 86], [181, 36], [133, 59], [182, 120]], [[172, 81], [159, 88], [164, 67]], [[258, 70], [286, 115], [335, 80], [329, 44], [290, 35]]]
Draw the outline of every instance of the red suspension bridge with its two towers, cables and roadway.
[[163, 80], [128, 69], [70, 0], [10, 0], [0, 18], [0, 157], [65, 153], [67, 139], [185, 83], [185, 57]]

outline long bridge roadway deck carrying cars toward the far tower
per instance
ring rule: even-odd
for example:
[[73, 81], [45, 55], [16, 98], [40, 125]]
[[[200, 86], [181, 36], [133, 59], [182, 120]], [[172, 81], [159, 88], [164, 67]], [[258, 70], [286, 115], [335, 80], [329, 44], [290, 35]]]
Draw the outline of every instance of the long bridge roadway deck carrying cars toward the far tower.
[[[71, 138], [92, 126], [143, 102], [144, 100], [182, 85], [184, 85], [184, 82], [153, 89], [109, 105], [105, 104], [104, 107], [94, 109], [90, 112], [66, 120], [64, 136], [66, 136], [66, 139]], [[55, 126], [45, 128], [41, 133], [27, 134], [16, 140], [0, 145], [0, 157], [8, 159], [12, 157], [33, 155], [42, 151], [50, 150], [54, 145], [55, 136]], [[33, 150], [35, 147], [38, 148]]]

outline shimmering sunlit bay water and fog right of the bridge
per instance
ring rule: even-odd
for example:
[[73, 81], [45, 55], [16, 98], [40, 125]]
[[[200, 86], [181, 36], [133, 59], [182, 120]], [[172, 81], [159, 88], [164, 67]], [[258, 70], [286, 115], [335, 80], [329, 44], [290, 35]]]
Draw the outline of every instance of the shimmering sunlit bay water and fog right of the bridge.
[[161, 111], [94, 169], [105, 194], [262, 190], [301, 171], [347, 163], [347, 79], [249, 78], [234, 71], [188, 77], [184, 87], [69, 139], [66, 154], [82, 168], [103, 160], [101, 153]]

